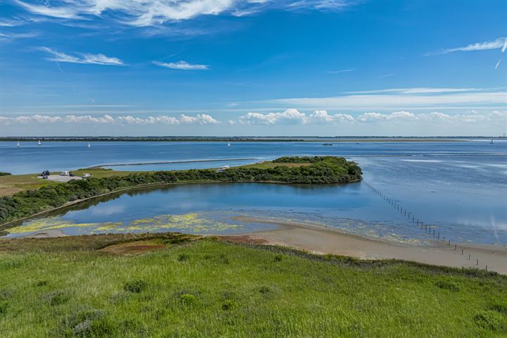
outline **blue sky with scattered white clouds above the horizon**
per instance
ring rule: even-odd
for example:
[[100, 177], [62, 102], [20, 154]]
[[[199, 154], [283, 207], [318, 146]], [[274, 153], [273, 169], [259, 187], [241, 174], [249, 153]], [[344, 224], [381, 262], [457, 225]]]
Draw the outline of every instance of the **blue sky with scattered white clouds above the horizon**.
[[2, 135], [501, 135], [506, 1], [0, 1]]

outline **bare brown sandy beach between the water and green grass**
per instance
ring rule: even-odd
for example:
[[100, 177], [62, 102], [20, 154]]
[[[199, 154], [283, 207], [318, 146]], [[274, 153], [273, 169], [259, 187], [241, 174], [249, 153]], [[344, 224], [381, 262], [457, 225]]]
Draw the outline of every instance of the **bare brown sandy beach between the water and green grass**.
[[[338, 230], [265, 218], [238, 218], [243, 222], [277, 225], [277, 229], [228, 236], [238, 241], [268, 243], [305, 249], [314, 253], [332, 253], [362, 259], [402, 259], [456, 268], [479, 268], [507, 275], [507, 247], [499, 245], [457, 244], [447, 246], [434, 242], [432, 246], [396, 244], [382, 240], [344, 234]], [[463, 254], [462, 254], [463, 249]], [[468, 255], [470, 254], [470, 259]], [[477, 259], [479, 264], [477, 265]]]

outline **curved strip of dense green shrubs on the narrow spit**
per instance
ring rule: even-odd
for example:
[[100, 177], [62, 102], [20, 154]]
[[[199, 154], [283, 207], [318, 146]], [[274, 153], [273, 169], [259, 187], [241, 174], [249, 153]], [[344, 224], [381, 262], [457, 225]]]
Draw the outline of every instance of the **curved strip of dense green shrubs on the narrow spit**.
[[[310, 159], [310, 160], [309, 160]], [[90, 197], [150, 184], [177, 182], [286, 182], [301, 184], [347, 183], [361, 180], [361, 168], [344, 158], [331, 156], [313, 158], [280, 158], [287, 163], [312, 163], [298, 167], [230, 168], [220, 173], [209, 169], [157, 171], [125, 176], [71, 180], [36, 190], [0, 197], [0, 224], [25, 218], [42, 211]], [[311, 161], [311, 162], [306, 162]]]

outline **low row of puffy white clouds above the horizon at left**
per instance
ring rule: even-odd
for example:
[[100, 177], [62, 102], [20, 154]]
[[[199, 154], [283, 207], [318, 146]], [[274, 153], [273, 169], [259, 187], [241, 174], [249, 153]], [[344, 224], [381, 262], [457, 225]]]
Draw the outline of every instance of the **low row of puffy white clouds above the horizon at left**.
[[216, 125], [220, 121], [215, 120], [208, 114], [197, 114], [195, 116], [181, 114], [177, 117], [168, 115], [149, 116], [139, 118], [132, 115], [121, 115], [113, 117], [111, 115], [92, 116], [92, 115], [29, 115], [18, 117], [0, 116], [1, 125], [14, 124], [46, 124], [46, 123], [87, 123], [87, 124], [117, 124], [117, 125], [179, 125], [179, 124], [199, 124]]

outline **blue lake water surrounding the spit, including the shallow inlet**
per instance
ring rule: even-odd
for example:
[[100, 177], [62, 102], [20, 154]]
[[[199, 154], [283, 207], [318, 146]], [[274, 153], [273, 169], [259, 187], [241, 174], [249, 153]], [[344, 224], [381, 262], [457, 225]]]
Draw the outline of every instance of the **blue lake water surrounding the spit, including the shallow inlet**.
[[[356, 161], [364, 178], [407, 212], [456, 242], [507, 244], [507, 142], [0, 142], [0, 171], [38, 173], [92, 165], [173, 170], [238, 165], [286, 155], [336, 155]], [[253, 158], [224, 161], [228, 158]], [[199, 184], [133, 191], [29, 220], [12, 230], [65, 233], [173, 231], [239, 233], [272, 225], [237, 216], [295, 220], [367, 237], [424, 244], [428, 237], [366, 184]]]

